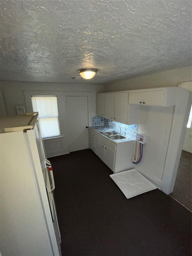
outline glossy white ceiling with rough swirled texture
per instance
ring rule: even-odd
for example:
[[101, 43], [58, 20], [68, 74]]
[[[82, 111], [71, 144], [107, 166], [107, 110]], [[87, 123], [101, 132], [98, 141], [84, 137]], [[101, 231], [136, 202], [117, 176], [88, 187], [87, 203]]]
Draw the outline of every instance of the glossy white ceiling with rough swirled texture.
[[[0, 80], [106, 83], [191, 64], [191, 1], [0, 1]], [[73, 80], [79, 68], [99, 71]]]

